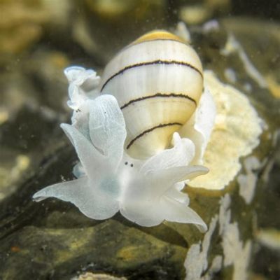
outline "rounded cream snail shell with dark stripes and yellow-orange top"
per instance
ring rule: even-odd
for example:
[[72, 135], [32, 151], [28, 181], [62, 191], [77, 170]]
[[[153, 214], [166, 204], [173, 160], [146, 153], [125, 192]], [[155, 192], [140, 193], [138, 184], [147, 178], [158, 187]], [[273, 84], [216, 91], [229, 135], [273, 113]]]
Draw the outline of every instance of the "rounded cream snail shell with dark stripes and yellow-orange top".
[[195, 50], [167, 31], [151, 31], [107, 64], [100, 91], [118, 99], [127, 153], [147, 158], [169, 146], [172, 134], [193, 115], [202, 87]]

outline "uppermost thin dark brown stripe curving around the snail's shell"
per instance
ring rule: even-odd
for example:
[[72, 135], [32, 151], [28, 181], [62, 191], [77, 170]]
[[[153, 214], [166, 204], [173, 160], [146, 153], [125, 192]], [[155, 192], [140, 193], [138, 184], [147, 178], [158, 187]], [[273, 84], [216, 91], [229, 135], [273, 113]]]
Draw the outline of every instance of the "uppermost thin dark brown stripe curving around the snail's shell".
[[120, 71], [118, 71], [117, 73], [114, 73], [110, 78], [108, 78], [106, 80], [106, 82], [104, 83], [104, 85], [102, 85], [102, 90], [104, 90], [104, 87], [106, 87], [107, 83], [109, 83], [110, 80], [112, 80], [113, 78], [115, 78], [116, 76], [123, 74], [125, 71], [132, 69], [132, 68], [137, 68], [137, 67], [141, 67], [141, 66], [146, 66], [146, 65], [155, 65], [155, 64], [164, 64], [164, 65], [170, 65], [170, 64], [176, 64], [176, 65], [182, 65], [182, 66], [188, 66], [191, 69], [195, 70], [197, 73], [200, 74], [200, 76], [203, 78], [202, 73], [200, 72], [199, 69], [197, 69], [195, 66], [189, 64], [188, 62], [180, 62], [180, 61], [176, 61], [176, 60], [153, 60], [151, 62], [141, 62], [141, 63], [137, 63], [137, 64], [132, 64], [129, 66], [126, 66], [125, 68], [121, 69]]

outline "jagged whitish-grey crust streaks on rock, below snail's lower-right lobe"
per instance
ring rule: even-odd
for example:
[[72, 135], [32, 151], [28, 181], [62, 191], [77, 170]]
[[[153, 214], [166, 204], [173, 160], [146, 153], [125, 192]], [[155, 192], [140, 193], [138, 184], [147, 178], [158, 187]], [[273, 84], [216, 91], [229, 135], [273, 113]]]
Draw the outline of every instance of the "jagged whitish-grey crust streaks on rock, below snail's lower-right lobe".
[[[247, 279], [251, 257], [251, 240], [242, 241], [239, 224], [237, 221], [232, 221], [230, 195], [222, 197], [220, 204], [219, 214], [212, 218], [209, 231], [204, 235], [202, 243], [193, 244], [188, 250], [184, 263], [186, 267], [185, 280], [216, 279], [215, 274], [221, 272], [223, 267], [228, 266], [233, 267], [231, 279]], [[209, 248], [216, 235], [219, 235], [221, 239], [223, 253], [209, 256]], [[213, 251], [210, 252], [213, 253]]]

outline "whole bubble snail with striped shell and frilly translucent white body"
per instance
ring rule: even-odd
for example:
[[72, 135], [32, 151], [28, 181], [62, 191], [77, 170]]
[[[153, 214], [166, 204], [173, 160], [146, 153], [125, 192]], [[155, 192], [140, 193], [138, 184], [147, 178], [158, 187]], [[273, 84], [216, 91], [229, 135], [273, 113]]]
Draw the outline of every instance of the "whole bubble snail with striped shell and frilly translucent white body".
[[202, 155], [215, 119], [195, 50], [152, 31], [120, 51], [101, 79], [78, 66], [64, 73], [73, 116], [61, 127], [80, 160], [76, 179], [43, 188], [34, 200], [56, 197], [97, 220], [120, 211], [142, 226], [172, 221], [206, 231], [182, 192], [208, 172]]

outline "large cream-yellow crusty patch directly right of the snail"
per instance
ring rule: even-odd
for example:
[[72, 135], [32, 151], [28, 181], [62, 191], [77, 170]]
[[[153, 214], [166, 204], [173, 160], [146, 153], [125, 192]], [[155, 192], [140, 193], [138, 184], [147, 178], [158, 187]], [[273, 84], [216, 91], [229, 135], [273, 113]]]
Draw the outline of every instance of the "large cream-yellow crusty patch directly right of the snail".
[[205, 86], [216, 104], [216, 122], [204, 153], [204, 166], [210, 172], [189, 183], [195, 188], [221, 190], [232, 181], [239, 160], [258, 146], [261, 120], [248, 98], [235, 87], [221, 83], [212, 71], [204, 72]]

